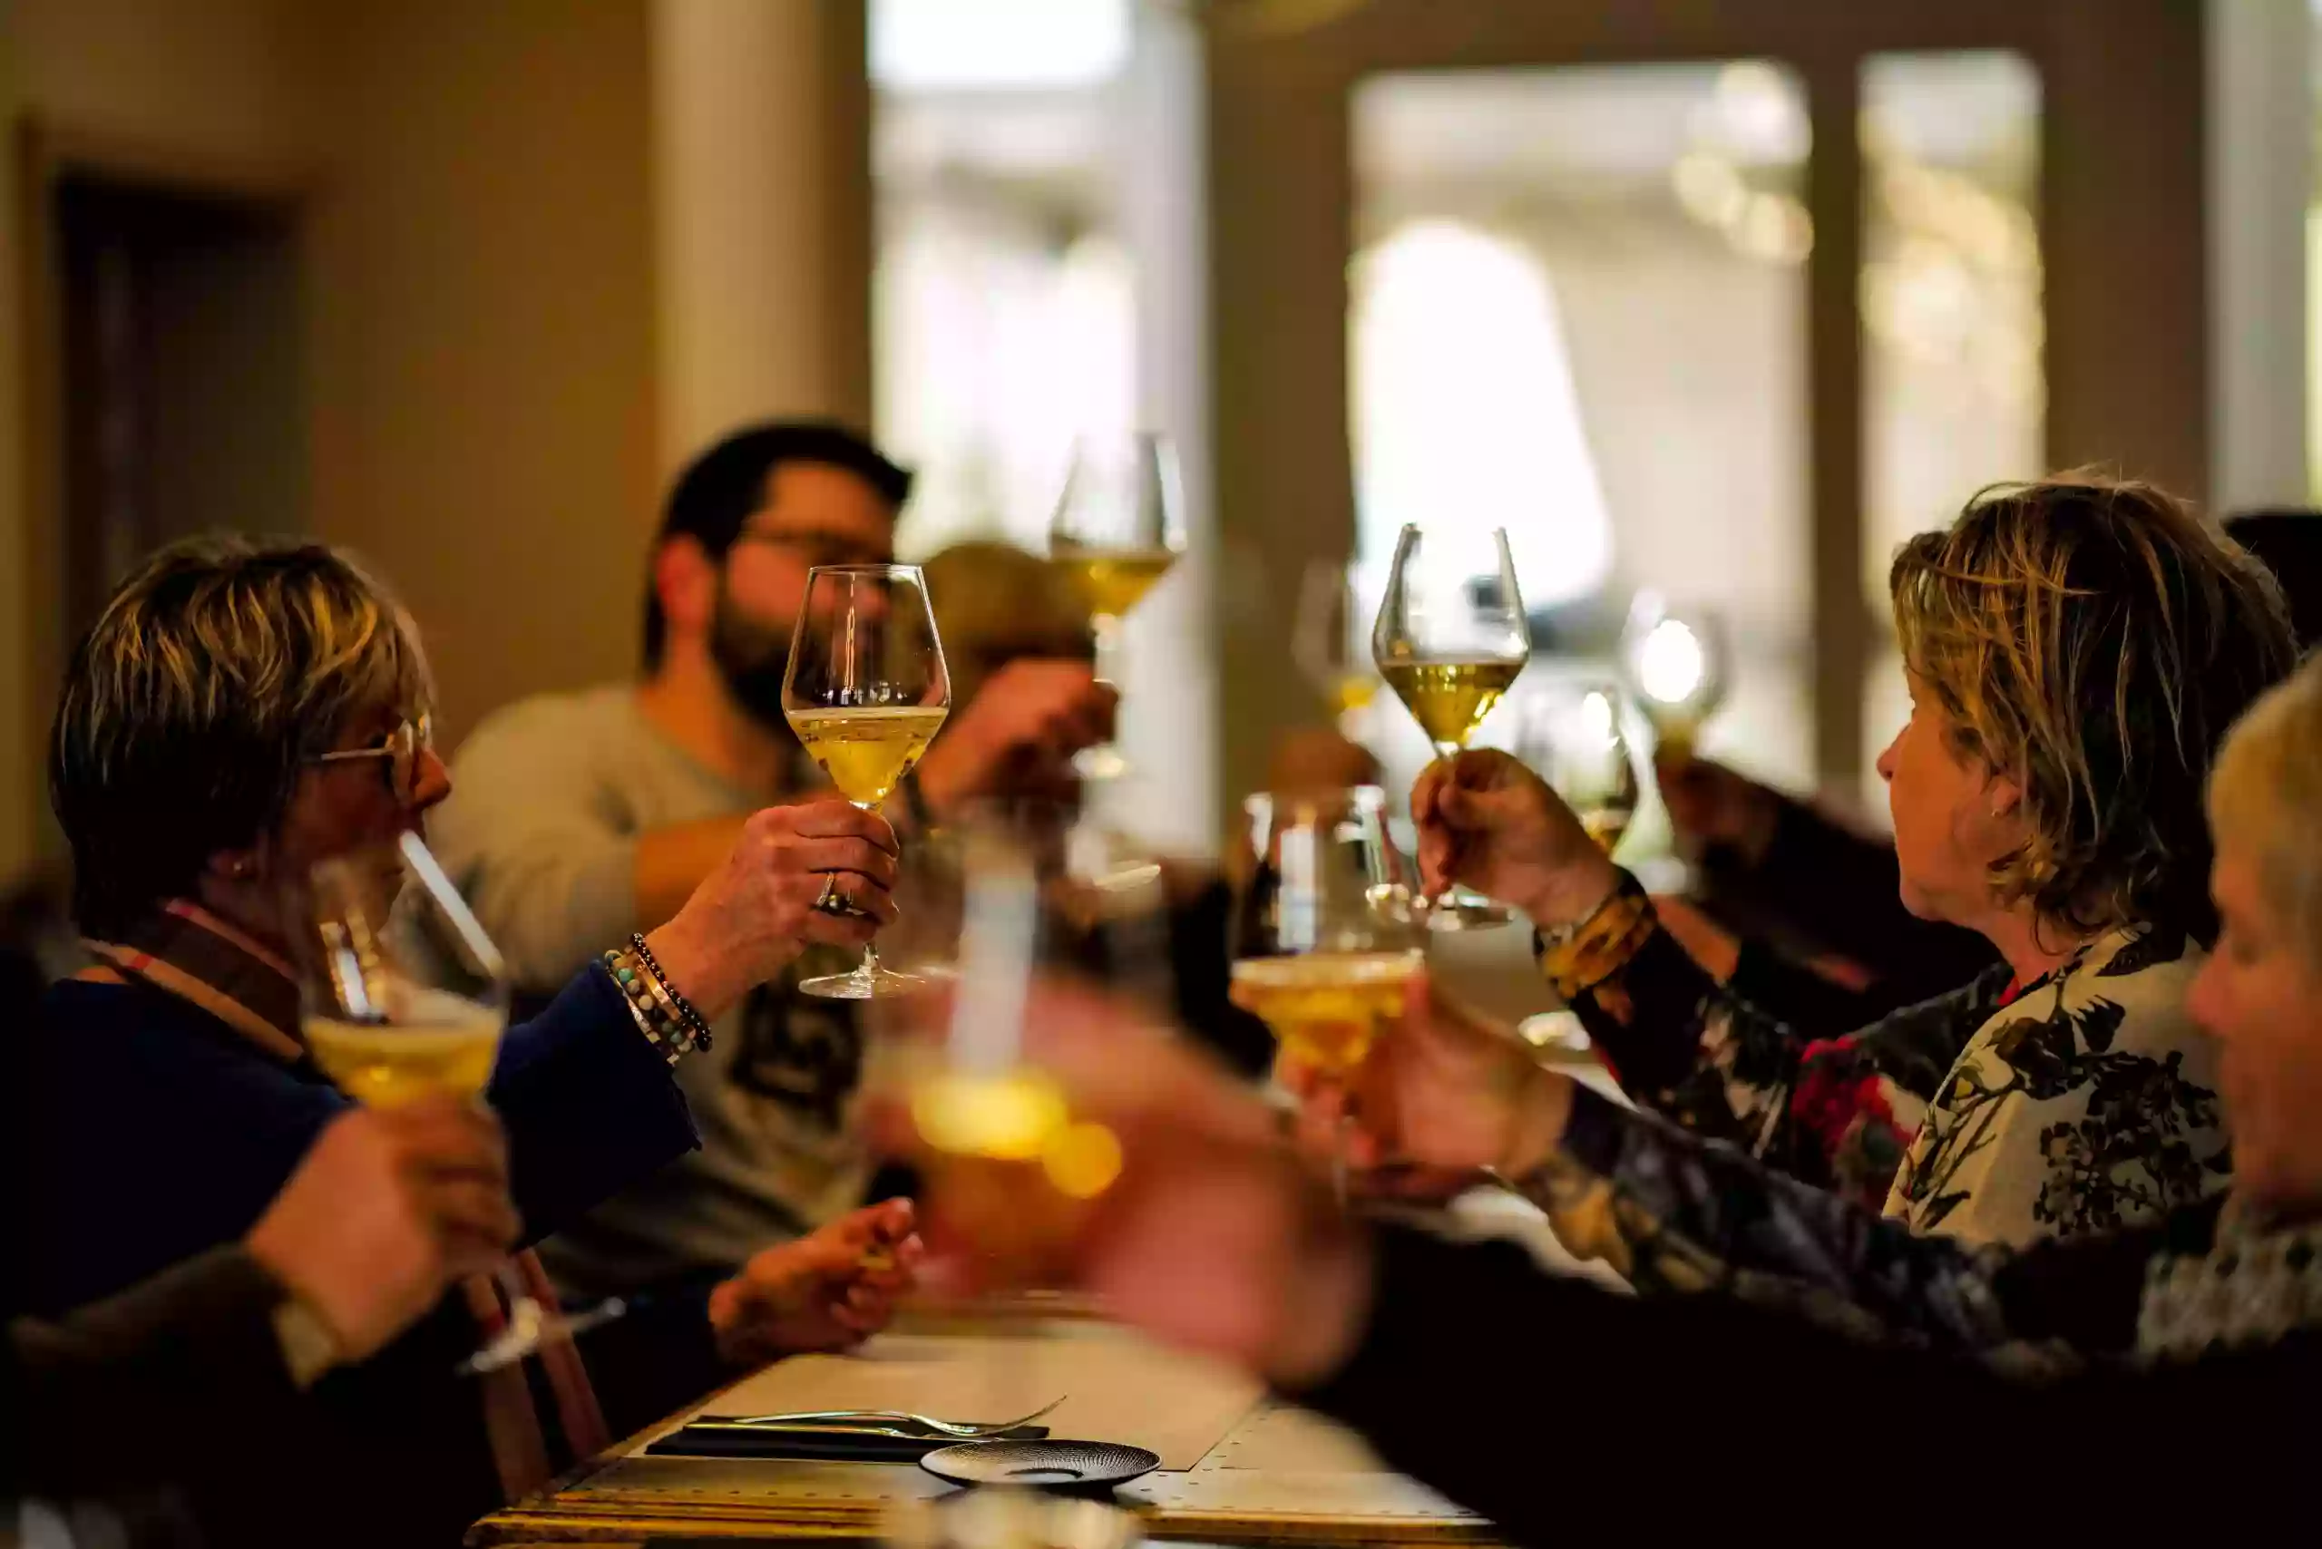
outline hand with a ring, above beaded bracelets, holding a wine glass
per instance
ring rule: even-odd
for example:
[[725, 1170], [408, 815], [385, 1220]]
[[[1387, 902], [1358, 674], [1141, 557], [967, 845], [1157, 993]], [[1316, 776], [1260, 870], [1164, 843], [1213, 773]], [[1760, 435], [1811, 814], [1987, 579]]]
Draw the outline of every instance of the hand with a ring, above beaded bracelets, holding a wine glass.
[[[836, 878], [857, 915], [815, 908]], [[646, 936], [704, 1017], [783, 973], [808, 943], [859, 950], [894, 922], [896, 838], [878, 813], [827, 797], [769, 806], [676, 920]]]

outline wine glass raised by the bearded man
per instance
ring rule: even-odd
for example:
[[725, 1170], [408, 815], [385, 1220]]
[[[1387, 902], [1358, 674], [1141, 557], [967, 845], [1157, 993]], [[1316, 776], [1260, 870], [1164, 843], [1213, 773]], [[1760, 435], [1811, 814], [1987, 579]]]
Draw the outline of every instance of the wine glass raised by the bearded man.
[[[1089, 608], [1098, 671], [1117, 680], [1122, 620], [1184, 555], [1184, 490], [1168, 439], [1082, 437], [1047, 525], [1047, 555]], [[1089, 780], [1128, 773], [1112, 743], [1084, 748], [1073, 766]]]

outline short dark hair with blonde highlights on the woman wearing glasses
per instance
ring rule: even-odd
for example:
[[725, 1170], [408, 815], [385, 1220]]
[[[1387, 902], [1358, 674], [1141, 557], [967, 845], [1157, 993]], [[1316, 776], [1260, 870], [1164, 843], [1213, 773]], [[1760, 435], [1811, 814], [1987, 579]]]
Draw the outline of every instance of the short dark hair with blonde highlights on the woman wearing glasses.
[[211, 855], [283, 820], [304, 762], [351, 722], [430, 699], [409, 618], [344, 553], [244, 536], [163, 548], [74, 648], [49, 734], [81, 929], [104, 936], [190, 894]]

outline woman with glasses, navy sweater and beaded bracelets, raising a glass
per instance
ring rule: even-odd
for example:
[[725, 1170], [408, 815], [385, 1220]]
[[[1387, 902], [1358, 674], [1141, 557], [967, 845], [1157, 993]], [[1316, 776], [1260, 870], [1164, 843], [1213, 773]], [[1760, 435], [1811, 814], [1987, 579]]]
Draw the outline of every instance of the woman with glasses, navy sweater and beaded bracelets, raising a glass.
[[[239, 1238], [348, 1108], [304, 1047], [290, 968], [302, 922], [286, 899], [316, 862], [423, 831], [450, 792], [430, 708], [411, 620], [323, 543], [172, 546], [79, 643], [49, 785], [100, 966], [51, 985], [33, 1024], [0, 1040], [9, 1289], [26, 1312], [109, 1296]], [[894, 917], [892, 882], [894, 834], [875, 815], [836, 799], [762, 810], [673, 920], [606, 941], [555, 1003], [509, 1026], [490, 1101], [525, 1231], [555, 1231], [697, 1145], [671, 1073], [706, 1043], [706, 1017], [808, 941], [866, 941]], [[827, 908], [836, 894], [868, 913]], [[669, 1384], [652, 1412], [882, 1321], [908, 1270], [864, 1249], [885, 1235], [908, 1261], [908, 1222], [901, 1203], [834, 1222], [618, 1324]], [[527, 1275], [543, 1294], [536, 1263]], [[448, 1542], [495, 1500], [546, 1484], [550, 1435], [569, 1454], [608, 1440], [569, 1340], [539, 1361], [555, 1428], [525, 1370], [455, 1375], [506, 1317], [485, 1284], [411, 1314], [409, 1333], [313, 1393], [302, 1449], [281, 1463], [334, 1498], [381, 1472], [404, 1482], [341, 1523], [346, 1542]], [[320, 1347], [316, 1366], [339, 1363], [344, 1331], [320, 1312], [302, 1331], [300, 1361]]]

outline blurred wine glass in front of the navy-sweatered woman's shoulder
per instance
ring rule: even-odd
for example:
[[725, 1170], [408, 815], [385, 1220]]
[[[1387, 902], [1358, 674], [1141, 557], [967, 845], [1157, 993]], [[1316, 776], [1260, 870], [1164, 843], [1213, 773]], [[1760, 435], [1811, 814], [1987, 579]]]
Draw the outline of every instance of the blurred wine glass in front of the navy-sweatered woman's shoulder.
[[[293, 885], [286, 920], [307, 1052], [346, 1096], [365, 1108], [432, 1091], [483, 1101], [509, 1024], [509, 975], [418, 834], [318, 862]], [[567, 1317], [513, 1261], [497, 1277], [506, 1319], [462, 1373], [499, 1370], [627, 1310], [615, 1298]]]

